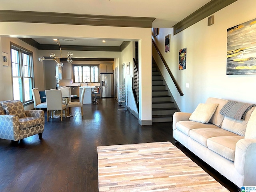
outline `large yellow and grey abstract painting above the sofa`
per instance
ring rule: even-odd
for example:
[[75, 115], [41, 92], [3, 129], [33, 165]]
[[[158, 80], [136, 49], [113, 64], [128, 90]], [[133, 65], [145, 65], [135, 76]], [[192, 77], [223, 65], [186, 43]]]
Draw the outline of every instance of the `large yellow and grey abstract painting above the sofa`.
[[256, 19], [228, 29], [227, 75], [256, 74]]

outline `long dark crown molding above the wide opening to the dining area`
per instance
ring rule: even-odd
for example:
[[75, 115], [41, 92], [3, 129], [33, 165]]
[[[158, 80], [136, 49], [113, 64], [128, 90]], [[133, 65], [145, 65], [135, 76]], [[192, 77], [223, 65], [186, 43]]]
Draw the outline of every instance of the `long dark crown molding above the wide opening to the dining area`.
[[151, 28], [152, 17], [125, 17], [86, 15], [54, 12], [0, 10], [1, 22], [30, 22], [91, 26], [143, 27]]

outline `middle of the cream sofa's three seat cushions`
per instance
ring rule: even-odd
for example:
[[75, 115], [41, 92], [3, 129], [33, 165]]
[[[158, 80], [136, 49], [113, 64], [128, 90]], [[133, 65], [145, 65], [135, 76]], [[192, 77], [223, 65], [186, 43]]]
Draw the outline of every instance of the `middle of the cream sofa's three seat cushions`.
[[218, 137], [218, 136], [238, 136], [232, 132], [226, 131], [224, 129], [193, 129], [189, 132], [190, 138], [207, 147], [208, 138]]

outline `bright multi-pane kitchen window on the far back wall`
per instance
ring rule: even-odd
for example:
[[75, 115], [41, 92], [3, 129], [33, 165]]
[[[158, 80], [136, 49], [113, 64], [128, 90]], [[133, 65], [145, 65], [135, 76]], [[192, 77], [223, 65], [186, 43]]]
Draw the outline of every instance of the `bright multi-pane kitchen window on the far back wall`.
[[98, 83], [99, 66], [95, 65], [73, 65], [74, 83]]

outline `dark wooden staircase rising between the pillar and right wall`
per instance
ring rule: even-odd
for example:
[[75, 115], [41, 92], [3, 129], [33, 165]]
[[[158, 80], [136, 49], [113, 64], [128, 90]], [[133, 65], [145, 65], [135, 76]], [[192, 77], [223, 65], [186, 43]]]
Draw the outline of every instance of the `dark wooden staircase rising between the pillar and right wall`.
[[172, 116], [177, 111], [152, 58], [152, 122], [172, 122]]

